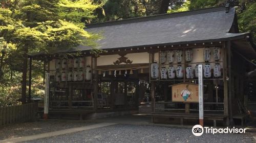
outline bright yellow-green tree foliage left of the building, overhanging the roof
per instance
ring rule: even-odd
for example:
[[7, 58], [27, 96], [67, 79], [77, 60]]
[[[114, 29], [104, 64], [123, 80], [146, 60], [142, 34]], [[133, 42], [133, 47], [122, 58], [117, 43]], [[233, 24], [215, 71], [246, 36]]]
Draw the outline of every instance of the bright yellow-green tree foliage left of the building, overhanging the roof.
[[[94, 46], [99, 37], [84, 31], [84, 22], [95, 18], [94, 10], [100, 7], [91, 0], [4, 0], [0, 4], [0, 106], [10, 105], [8, 97], [20, 97], [15, 90], [20, 91], [20, 72], [27, 73], [22, 64], [26, 65], [27, 53]], [[33, 63], [39, 71], [42, 65]], [[42, 83], [42, 73], [36, 74], [34, 83]]]

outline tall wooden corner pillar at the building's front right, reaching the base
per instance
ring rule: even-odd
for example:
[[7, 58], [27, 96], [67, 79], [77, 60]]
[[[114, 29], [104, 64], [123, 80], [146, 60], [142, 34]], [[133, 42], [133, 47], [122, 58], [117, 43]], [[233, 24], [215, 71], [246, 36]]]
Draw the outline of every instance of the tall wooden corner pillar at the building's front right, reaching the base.
[[231, 42], [226, 42], [226, 49], [228, 54], [228, 105], [229, 105], [229, 123], [233, 125], [233, 114], [232, 114], [232, 72], [231, 72]]

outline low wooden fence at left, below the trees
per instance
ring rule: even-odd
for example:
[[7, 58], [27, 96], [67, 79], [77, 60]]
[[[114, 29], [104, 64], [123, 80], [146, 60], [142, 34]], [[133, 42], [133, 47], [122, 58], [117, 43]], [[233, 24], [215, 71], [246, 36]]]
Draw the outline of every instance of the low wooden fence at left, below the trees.
[[37, 103], [0, 108], [0, 126], [35, 120]]

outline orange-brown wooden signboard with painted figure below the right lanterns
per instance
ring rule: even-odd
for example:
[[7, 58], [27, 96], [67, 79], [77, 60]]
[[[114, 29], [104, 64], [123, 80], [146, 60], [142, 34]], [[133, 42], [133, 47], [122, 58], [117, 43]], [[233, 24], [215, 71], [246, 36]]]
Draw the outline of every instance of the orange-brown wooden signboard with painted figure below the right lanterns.
[[198, 102], [198, 84], [179, 83], [172, 85], [173, 102]]

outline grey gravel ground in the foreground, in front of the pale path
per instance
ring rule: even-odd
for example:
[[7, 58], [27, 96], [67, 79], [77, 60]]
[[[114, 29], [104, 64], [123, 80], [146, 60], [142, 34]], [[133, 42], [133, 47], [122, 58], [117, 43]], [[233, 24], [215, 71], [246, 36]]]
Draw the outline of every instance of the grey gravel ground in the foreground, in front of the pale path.
[[194, 136], [191, 129], [141, 125], [113, 125], [28, 142], [253, 142], [246, 134], [203, 134]]

